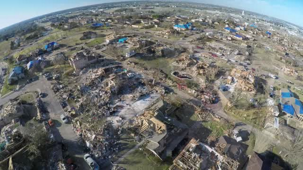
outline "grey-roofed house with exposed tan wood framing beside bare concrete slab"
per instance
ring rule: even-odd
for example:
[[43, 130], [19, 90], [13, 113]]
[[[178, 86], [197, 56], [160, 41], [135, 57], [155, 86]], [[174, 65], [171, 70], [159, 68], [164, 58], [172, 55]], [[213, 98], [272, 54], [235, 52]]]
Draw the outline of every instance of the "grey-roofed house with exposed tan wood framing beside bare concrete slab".
[[172, 151], [188, 136], [188, 127], [162, 113], [145, 112], [140, 116], [141, 134], [149, 141], [146, 148], [161, 160], [172, 155]]

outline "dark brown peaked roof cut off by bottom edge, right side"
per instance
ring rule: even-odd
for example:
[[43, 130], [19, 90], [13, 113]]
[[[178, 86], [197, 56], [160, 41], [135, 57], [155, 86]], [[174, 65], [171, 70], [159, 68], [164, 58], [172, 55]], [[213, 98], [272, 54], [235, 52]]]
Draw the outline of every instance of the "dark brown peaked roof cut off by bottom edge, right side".
[[256, 152], [253, 152], [249, 161], [246, 165], [245, 170], [282, 170], [281, 166], [272, 162], [272, 160], [268, 159], [268, 156], [262, 156]]

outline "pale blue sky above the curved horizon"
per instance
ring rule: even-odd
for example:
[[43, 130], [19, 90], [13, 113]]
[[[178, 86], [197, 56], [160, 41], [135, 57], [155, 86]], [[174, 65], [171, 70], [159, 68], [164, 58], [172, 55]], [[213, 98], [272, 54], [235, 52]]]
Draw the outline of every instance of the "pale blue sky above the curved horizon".
[[[17, 22], [85, 5], [121, 0], [2, 0], [0, 29]], [[183, 0], [184, 1], [184, 0]], [[303, 26], [303, 0], [185, 0], [240, 8]]]

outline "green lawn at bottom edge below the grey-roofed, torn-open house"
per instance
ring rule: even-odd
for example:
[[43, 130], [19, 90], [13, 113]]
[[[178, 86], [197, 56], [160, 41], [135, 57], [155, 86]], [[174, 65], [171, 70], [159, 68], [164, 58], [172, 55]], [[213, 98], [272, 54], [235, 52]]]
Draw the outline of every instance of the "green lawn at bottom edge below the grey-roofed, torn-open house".
[[119, 166], [122, 166], [128, 170], [168, 170], [169, 165], [155, 165], [149, 161], [144, 152], [140, 149], [136, 149], [134, 152], [129, 154], [123, 159]]

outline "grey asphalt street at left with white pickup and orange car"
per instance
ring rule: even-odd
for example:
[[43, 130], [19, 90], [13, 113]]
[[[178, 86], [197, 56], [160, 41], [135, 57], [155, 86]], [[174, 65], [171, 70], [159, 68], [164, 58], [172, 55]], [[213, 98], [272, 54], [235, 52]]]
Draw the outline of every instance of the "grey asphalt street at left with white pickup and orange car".
[[28, 91], [41, 91], [42, 93], [47, 94], [45, 98], [42, 98], [42, 101], [45, 102], [45, 106], [49, 111], [49, 117], [52, 118], [55, 122], [55, 126], [52, 127], [52, 132], [56, 141], [63, 142], [67, 146], [68, 154], [72, 156], [75, 164], [79, 166], [79, 169], [90, 169], [88, 164], [83, 159], [85, 153], [82, 146], [78, 143], [77, 135], [72, 129], [72, 126], [70, 124], [62, 123], [60, 119], [60, 115], [64, 114], [64, 111], [60, 106], [55, 93], [51, 90], [50, 81], [47, 81], [41, 76], [39, 77], [39, 80], [25, 85], [25, 87], [20, 88], [19, 91], [15, 91], [5, 98], [1, 98], [0, 105]]

